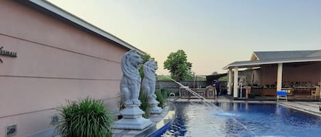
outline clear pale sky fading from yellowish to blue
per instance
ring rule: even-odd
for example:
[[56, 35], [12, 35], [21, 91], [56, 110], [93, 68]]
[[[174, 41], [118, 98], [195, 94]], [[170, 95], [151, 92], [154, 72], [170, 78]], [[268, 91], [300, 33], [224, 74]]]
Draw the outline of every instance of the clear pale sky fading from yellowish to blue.
[[321, 50], [319, 0], [49, 0], [150, 54], [164, 70], [184, 50], [196, 75], [253, 51]]

